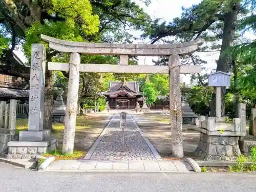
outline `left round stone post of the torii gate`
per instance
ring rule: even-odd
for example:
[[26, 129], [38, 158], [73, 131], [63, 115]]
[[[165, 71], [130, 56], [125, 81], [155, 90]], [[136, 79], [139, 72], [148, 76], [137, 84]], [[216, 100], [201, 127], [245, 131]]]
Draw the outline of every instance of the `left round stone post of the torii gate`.
[[80, 63], [81, 63], [80, 54], [71, 53], [67, 107], [66, 107], [66, 116], [65, 116], [65, 130], [64, 130], [63, 145], [62, 145], [63, 154], [73, 154], [73, 151], [74, 151]]

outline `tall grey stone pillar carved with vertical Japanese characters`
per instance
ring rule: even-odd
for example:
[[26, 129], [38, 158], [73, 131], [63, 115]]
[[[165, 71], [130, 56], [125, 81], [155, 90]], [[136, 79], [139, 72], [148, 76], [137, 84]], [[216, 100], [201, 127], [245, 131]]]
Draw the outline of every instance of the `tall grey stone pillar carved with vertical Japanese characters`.
[[44, 45], [32, 44], [28, 131], [42, 131], [44, 127], [45, 54], [46, 48]]

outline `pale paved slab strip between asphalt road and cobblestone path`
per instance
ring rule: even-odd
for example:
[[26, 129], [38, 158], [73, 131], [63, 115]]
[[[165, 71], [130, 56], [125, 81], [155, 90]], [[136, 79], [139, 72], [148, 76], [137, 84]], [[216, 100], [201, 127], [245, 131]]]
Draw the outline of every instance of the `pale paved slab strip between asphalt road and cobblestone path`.
[[183, 161], [140, 160], [56, 160], [46, 172], [165, 172], [190, 173], [193, 168]]

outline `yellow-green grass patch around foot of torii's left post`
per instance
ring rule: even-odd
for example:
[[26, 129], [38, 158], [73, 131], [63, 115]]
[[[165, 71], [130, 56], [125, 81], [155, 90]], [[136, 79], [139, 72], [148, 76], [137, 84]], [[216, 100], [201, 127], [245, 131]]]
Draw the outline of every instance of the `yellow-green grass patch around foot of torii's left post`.
[[71, 159], [81, 159], [82, 157], [84, 157], [86, 155], [86, 153], [79, 151], [79, 150], [75, 150], [73, 154], [62, 154], [62, 152], [60, 150], [55, 150], [52, 152], [48, 152], [44, 154], [44, 157], [52, 157], [54, 156], [56, 160], [71, 160]]

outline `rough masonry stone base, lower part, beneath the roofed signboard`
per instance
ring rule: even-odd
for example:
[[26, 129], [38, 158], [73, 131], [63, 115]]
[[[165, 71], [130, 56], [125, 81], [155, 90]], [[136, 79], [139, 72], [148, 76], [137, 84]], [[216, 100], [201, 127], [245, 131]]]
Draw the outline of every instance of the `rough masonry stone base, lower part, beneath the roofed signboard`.
[[210, 136], [201, 132], [195, 153], [203, 160], [235, 160], [241, 155], [238, 140], [238, 136]]

